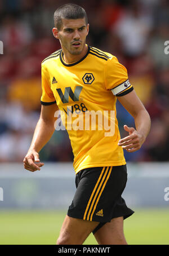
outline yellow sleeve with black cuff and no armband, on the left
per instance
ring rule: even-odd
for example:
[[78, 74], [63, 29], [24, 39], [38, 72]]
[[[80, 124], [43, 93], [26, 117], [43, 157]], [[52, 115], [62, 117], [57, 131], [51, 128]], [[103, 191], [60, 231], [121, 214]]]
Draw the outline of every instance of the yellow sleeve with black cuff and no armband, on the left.
[[41, 66], [41, 76], [42, 76], [42, 105], [51, 105], [56, 103], [55, 96], [50, 87], [50, 79], [46, 67], [42, 64]]

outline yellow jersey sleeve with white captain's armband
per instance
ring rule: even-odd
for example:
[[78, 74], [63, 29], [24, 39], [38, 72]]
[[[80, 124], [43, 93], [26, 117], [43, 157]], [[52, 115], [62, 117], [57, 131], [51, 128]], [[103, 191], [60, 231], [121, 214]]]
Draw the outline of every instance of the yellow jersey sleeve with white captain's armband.
[[105, 87], [115, 96], [123, 96], [134, 90], [128, 81], [127, 69], [113, 56], [105, 65]]

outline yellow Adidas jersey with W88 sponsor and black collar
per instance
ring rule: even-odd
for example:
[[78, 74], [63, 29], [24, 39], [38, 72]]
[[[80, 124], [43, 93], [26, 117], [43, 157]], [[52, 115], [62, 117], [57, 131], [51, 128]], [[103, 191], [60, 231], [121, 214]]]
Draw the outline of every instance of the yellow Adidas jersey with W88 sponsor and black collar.
[[61, 49], [42, 61], [41, 104], [59, 107], [76, 174], [88, 167], [126, 164], [118, 146], [115, 103], [133, 90], [126, 68], [115, 56], [87, 47], [86, 55], [75, 63], [65, 63]]

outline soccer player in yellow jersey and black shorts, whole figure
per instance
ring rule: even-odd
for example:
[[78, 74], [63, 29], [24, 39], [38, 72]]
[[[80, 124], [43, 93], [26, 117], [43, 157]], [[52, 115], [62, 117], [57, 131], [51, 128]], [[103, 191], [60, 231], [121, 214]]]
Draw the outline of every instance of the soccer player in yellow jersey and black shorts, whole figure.
[[[41, 116], [24, 167], [37, 171], [44, 165], [38, 153], [54, 133], [54, 114], [60, 109], [74, 153], [77, 191], [57, 244], [83, 244], [91, 232], [98, 244], [127, 244], [123, 220], [134, 211], [121, 197], [127, 182], [123, 149], [135, 152], [141, 148], [150, 130], [150, 117], [128, 81], [126, 68], [112, 54], [86, 44], [89, 24], [82, 7], [74, 4], [59, 7], [54, 22], [52, 32], [61, 49], [42, 61]], [[136, 126], [135, 129], [124, 125], [128, 136], [123, 139], [115, 114], [117, 98], [134, 117]], [[97, 111], [104, 120], [106, 116], [113, 123], [111, 133], [105, 126], [100, 129], [96, 118], [96, 129], [91, 129], [93, 123], [87, 123], [83, 129], [70, 129], [71, 115], [73, 122], [74, 115], [81, 116], [78, 119], [81, 122], [86, 113]]]

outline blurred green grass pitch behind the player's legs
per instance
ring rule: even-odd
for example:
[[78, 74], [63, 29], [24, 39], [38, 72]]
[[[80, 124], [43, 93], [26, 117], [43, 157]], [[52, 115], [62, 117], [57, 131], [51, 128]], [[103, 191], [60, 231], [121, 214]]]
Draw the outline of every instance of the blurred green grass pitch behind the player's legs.
[[[0, 244], [55, 244], [65, 212], [1, 211]], [[128, 244], [169, 244], [169, 209], [135, 209], [124, 220]], [[97, 244], [91, 234], [84, 242]]]

